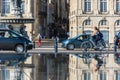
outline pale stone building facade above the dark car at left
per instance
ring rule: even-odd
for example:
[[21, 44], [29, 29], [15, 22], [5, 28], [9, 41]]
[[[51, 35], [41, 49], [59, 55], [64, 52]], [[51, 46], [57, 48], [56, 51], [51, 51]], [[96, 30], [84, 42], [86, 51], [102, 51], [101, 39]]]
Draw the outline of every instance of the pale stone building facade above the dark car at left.
[[[11, 29], [18, 32], [24, 28], [24, 31], [27, 31], [27, 35], [31, 38], [33, 22], [30, 19], [33, 19], [33, 9], [31, 6], [33, 1], [20, 0], [17, 2], [14, 0], [0, 0], [0, 3], [2, 4], [0, 9], [0, 27], [7, 28], [10, 26]], [[17, 6], [21, 9], [16, 8]]]

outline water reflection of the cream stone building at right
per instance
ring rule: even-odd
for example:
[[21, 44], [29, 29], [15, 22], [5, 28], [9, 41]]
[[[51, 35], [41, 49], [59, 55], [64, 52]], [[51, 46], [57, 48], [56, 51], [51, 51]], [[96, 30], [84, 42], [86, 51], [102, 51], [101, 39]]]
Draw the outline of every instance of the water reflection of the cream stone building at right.
[[84, 64], [82, 58], [69, 56], [69, 80], [119, 80], [120, 65], [115, 63], [111, 54], [103, 58], [103, 65], [99, 71], [94, 71], [94, 64], [97, 62], [91, 59], [90, 64]]

